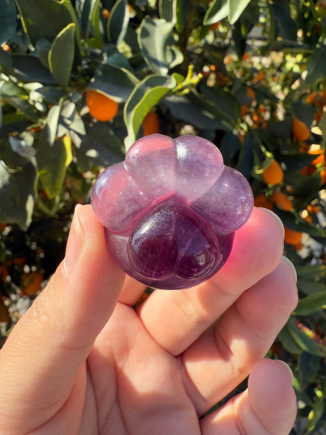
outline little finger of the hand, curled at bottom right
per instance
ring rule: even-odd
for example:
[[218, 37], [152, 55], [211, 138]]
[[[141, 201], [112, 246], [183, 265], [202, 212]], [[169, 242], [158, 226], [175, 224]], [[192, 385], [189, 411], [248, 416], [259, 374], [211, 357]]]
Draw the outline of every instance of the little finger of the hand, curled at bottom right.
[[202, 435], [288, 435], [297, 409], [292, 382], [283, 361], [258, 361], [246, 391], [201, 420]]

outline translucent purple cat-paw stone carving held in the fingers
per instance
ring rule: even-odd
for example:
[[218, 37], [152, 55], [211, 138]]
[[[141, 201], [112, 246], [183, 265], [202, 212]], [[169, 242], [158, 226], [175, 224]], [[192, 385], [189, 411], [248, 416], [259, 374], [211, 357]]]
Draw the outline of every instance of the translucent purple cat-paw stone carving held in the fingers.
[[152, 134], [100, 174], [91, 203], [127, 274], [150, 287], [180, 289], [223, 266], [234, 231], [252, 212], [253, 193], [210, 141]]

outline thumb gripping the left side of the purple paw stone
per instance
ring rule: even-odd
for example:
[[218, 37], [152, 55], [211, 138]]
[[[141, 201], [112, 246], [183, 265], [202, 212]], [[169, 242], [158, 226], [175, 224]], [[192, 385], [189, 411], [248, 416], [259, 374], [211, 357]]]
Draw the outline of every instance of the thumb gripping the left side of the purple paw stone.
[[[78, 205], [64, 261], [0, 351], [4, 431], [6, 423], [10, 431], [33, 429], [61, 408], [116, 306], [123, 281], [106, 248], [103, 226], [89, 205]], [[27, 427], [31, 420], [33, 428]]]

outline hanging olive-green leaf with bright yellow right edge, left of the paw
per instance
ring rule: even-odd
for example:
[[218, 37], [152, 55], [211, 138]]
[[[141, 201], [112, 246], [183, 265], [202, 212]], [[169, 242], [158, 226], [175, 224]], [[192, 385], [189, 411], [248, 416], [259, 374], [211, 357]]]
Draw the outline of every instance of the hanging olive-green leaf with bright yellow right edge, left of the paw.
[[40, 181], [49, 198], [60, 193], [71, 157], [70, 137], [57, 139], [51, 145], [47, 129], [43, 128], [39, 136], [36, 159]]

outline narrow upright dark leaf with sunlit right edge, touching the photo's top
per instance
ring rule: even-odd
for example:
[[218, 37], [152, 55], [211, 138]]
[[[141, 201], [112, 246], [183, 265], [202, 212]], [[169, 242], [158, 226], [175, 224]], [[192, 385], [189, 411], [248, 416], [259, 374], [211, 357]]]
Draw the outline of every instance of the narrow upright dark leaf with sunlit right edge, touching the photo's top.
[[129, 7], [126, 0], [117, 0], [107, 20], [107, 39], [115, 45], [123, 41], [129, 23]]

